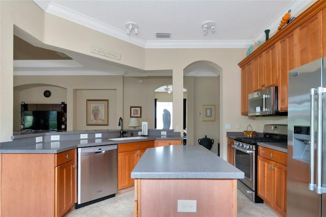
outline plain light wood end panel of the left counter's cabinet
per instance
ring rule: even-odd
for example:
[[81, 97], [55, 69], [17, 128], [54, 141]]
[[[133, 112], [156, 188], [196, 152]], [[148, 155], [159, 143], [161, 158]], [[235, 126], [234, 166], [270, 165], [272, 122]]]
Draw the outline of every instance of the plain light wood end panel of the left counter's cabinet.
[[0, 216], [54, 216], [55, 155], [0, 156]]

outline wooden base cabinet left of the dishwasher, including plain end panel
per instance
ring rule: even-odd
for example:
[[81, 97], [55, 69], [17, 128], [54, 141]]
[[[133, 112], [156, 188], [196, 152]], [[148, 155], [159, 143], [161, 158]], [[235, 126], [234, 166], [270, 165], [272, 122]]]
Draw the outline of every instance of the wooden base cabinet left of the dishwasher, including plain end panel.
[[[63, 160], [67, 153], [69, 159]], [[76, 150], [1, 154], [0, 216], [63, 216], [76, 202]], [[18, 206], [17, 206], [18, 201]]]

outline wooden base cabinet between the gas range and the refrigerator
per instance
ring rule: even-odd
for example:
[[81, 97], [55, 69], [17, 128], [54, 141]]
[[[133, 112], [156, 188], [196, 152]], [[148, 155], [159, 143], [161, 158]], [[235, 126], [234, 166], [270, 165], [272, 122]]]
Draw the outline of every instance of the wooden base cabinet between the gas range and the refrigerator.
[[287, 154], [258, 147], [258, 196], [286, 216]]

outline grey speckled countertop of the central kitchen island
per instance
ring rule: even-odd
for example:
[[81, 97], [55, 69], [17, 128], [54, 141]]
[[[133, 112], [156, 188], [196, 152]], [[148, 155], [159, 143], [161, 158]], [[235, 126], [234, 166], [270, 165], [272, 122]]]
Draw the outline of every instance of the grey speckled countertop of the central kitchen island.
[[238, 179], [244, 173], [201, 145], [172, 145], [146, 149], [131, 178]]

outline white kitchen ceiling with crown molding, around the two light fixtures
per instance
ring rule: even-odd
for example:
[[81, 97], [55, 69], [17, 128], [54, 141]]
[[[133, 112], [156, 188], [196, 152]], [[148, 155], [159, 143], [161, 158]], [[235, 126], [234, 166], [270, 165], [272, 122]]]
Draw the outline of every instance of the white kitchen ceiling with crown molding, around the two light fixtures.
[[[144, 48], [249, 47], [274, 35], [285, 13], [295, 15], [308, 0], [185, 0], [185, 1], [80, 1], [33, 0], [42, 10]], [[215, 33], [203, 34], [205, 21]], [[127, 36], [126, 23], [139, 26]], [[155, 33], [171, 33], [156, 38]]]

